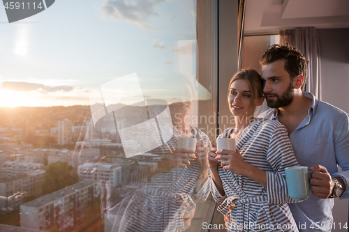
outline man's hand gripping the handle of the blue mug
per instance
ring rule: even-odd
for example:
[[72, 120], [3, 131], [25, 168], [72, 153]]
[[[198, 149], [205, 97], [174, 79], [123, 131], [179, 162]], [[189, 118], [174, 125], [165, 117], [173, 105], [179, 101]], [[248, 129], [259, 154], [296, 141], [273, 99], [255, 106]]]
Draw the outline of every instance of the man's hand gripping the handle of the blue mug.
[[315, 164], [309, 168], [310, 171], [315, 171], [311, 174], [309, 183], [311, 183], [311, 192], [314, 196], [320, 199], [327, 199], [332, 194], [334, 182], [329, 175], [327, 169], [319, 164]]

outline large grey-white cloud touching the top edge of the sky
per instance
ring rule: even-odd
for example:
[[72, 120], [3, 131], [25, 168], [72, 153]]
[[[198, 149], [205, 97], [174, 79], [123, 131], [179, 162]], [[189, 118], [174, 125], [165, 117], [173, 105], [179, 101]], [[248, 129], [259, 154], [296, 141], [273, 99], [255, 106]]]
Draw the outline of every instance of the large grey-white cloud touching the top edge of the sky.
[[150, 17], [158, 17], [155, 6], [167, 0], [107, 0], [101, 10], [114, 20], [131, 22], [151, 29], [147, 26]]

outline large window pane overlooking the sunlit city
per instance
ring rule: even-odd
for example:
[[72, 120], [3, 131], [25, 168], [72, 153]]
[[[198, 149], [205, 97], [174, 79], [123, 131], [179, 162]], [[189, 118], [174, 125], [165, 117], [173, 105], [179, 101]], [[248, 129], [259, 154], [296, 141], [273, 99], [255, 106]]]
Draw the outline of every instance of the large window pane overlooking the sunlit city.
[[170, 166], [179, 137], [207, 145], [193, 127], [216, 136], [202, 123], [215, 83], [198, 75], [196, 1], [55, 1], [11, 23], [0, 8], [0, 21], [0, 224], [111, 231], [163, 212], [184, 229], [202, 217], [205, 167]]

